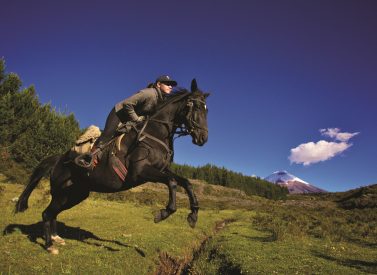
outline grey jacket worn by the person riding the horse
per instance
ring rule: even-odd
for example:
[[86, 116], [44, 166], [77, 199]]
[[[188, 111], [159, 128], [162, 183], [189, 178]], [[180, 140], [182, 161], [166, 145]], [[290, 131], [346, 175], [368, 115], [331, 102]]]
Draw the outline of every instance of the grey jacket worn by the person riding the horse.
[[117, 103], [115, 112], [123, 123], [135, 121], [139, 116], [152, 114], [162, 99], [162, 92], [158, 88], [143, 89]]

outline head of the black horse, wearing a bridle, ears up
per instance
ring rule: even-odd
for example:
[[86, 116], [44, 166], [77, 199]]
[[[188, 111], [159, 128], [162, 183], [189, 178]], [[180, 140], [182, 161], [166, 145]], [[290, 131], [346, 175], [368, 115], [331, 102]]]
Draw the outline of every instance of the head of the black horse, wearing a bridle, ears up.
[[196, 145], [202, 146], [208, 140], [208, 125], [207, 125], [207, 105], [206, 98], [209, 93], [203, 93], [196, 83], [196, 80], [191, 81], [191, 93], [186, 100], [186, 110], [184, 124], [187, 131], [192, 137], [192, 142]]

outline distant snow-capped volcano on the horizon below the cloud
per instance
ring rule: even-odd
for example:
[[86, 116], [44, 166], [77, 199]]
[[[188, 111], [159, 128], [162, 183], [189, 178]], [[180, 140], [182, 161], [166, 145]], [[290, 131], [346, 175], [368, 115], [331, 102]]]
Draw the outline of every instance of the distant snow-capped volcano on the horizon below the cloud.
[[326, 192], [310, 183], [289, 174], [287, 171], [276, 171], [265, 178], [266, 181], [286, 186], [290, 194]]

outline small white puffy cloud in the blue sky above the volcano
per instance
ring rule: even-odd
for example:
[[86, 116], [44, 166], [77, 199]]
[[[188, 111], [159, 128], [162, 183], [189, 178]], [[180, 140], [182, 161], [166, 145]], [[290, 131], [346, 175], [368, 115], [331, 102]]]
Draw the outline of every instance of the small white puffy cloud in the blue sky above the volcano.
[[308, 142], [291, 149], [288, 157], [291, 163], [303, 164], [304, 166], [320, 161], [329, 160], [352, 146], [348, 141], [359, 133], [341, 133], [339, 128], [320, 129], [323, 136], [328, 136], [338, 142], [320, 140]]

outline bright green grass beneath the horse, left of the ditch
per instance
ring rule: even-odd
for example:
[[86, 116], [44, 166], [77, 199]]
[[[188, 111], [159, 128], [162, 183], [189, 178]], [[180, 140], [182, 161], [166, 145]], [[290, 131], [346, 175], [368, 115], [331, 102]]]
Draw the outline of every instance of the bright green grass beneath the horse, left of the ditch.
[[184, 265], [192, 258], [214, 224], [236, 211], [206, 210], [191, 229], [188, 209], [155, 224], [153, 213], [163, 205], [107, 201], [91, 198], [59, 215], [59, 234], [67, 245], [52, 256], [43, 249], [41, 212], [48, 204], [43, 188], [31, 196], [29, 209], [13, 214], [23, 186], [0, 184], [0, 272], [3, 274], [151, 274], [166, 255]]

